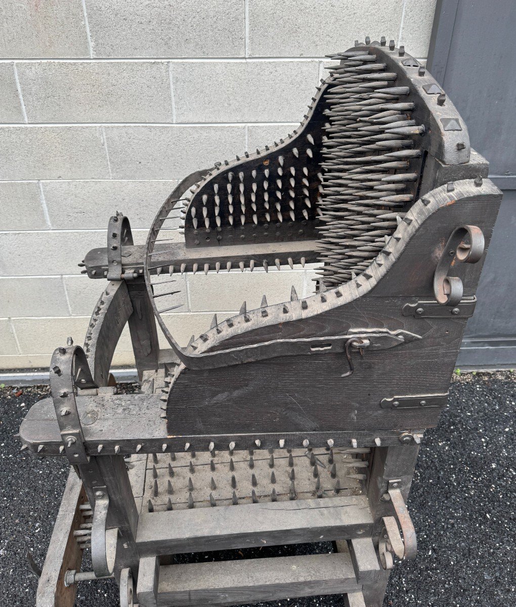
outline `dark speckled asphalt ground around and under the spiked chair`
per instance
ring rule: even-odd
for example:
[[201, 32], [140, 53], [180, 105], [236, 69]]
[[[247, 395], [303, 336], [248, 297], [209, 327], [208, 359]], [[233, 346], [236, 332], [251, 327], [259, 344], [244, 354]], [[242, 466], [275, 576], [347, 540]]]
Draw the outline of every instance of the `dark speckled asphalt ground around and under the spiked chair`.
[[[67, 476], [61, 459], [19, 452], [13, 439], [27, 410], [48, 387], [25, 387], [16, 396], [0, 387], [0, 596], [2, 604], [32, 606], [37, 580], [25, 554], [36, 563], [46, 554]], [[409, 508], [418, 533], [418, 558], [399, 564], [384, 607], [508, 607], [516, 604], [516, 374], [455, 377], [438, 428], [426, 433]], [[268, 548], [268, 554], [328, 552], [331, 544]], [[256, 549], [224, 553], [239, 559]], [[219, 555], [220, 556], [220, 555]], [[208, 560], [212, 553], [184, 555]], [[114, 607], [112, 582], [83, 583], [76, 605]], [[263, 605], [344, 605], [341, 595], [291, 599]]]

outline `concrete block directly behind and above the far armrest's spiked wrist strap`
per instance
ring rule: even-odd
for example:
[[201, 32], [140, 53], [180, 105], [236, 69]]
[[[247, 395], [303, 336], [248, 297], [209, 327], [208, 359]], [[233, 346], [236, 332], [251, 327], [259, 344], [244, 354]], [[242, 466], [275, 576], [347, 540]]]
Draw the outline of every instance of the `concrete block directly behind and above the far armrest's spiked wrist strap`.
[[[120, 211], [135, 229], [151, 226], [177, 184], [177, 180], [44, 181], [42, 188], [52, 228], [103, 229], [109, 217]], [[178, 228], [179, 219], [167, 222], [167, 226]]]

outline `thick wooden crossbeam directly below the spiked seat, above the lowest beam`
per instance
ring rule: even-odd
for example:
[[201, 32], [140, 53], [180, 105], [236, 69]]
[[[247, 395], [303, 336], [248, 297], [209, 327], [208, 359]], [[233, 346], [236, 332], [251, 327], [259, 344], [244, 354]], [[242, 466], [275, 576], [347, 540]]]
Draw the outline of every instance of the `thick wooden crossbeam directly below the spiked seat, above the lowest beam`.
[[217, 506], [141, 514], [140, 555], [336, 540], [370, 532], [364, 496]]

